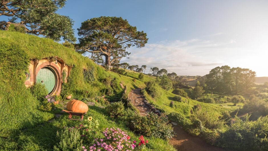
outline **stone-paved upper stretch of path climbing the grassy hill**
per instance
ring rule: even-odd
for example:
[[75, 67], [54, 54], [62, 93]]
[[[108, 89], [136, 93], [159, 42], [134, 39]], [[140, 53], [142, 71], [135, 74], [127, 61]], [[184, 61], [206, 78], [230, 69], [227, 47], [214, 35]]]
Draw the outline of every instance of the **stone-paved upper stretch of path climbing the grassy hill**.
[[130, 99], [131, 104], [139, 110], [141, 116], [148, 115], [148, 112], [155, 113], [155, 111], [149, 107], [150, 104], [146, 103], [147, 100], [143, 97], [141, 89], [131, 90], [128, 98]]

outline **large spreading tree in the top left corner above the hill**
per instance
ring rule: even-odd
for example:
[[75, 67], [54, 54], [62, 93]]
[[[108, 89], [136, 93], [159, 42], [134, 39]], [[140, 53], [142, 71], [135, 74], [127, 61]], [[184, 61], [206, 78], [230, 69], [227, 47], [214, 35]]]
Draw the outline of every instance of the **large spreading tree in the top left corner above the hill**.
[[[73, 21], [56, 11], [64, 7], [66, 0], [3, 0], [0, 2], [0, 16], [9, 21], [0, 21], [0, 28], [8, 30], [15, 23], [24, 26], [27, 33], [43, 35], [56, 41], [75, 42]], [[17, 22], [18, 21], [18, 22]]]

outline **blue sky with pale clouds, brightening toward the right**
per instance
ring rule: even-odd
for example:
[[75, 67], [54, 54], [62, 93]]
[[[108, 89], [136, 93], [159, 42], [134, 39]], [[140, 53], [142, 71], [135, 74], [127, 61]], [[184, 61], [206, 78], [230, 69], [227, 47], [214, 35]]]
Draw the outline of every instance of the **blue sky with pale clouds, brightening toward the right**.
[[[147, 33], [143, 48], [131, 47], [130, 65], [165, 68], [177, 75], [206, 75], [228, 65], [268, 76], [268, 1], [69, 0], [57, 13], [83, 21], [100, 16], [127, 19]], [[78, 43], [78, 41], [77, 41]]]

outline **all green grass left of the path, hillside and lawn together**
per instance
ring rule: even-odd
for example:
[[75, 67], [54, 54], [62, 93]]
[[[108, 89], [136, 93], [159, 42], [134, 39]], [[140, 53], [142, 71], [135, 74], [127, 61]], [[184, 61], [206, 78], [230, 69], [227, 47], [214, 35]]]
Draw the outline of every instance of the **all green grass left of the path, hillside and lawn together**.
[[[41, 111], [39, 100], [24, 85], [24, 73], [31, 60], [55, 56], [62, 58], [67, 65], [74, 66], [68, 82], [62, 86], [62, 96], [67, 91], [77, 99], [82, 99], [85, 95], [103, 95], [108, 91], [103, 80], [108, 77], [112, 79], [113, 90], [119, 97], [124, 92], [120, 83], [126, 86], [127, 93], [131, 89], [145, 87], [143, 82], [134, 80], [138, 74], [128, 73], [129, 76], [124, 76], [106, 71], [87, 57], [53, 40], [19, 32], [0, 31], [0, 150], [53, 150], [58, 141], [57, 131], [65, 126], [81, 123], [68, 120], [67, 114], [48, 123], [55, 113], [59, 113], [59, 109]], [[94, 81], [84, 80], [83, 69], [94, 71]], [[151, 77], [145, 75], [145, 81], [149, 80]], [[128, 132], [132, 138], [139, 137], [127, 128], [126, 123], [108, 117], [106, 111], [100, 107], [90, 107], [84, 118], [89, 116], [99, 120], [100, 129], [117, 127]], [[100, 134], [101, 130], [96, 135]], [[147, 139], [149, 143], [143, 150], [174, 150], [165, 140]]]

